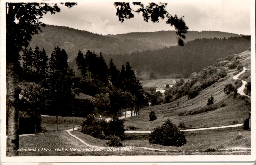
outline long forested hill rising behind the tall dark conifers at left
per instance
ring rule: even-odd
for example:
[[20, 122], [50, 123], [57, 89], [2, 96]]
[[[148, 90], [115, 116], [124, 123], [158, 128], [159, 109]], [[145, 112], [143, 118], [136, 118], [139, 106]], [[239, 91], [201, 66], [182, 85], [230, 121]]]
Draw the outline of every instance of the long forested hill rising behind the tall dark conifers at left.
[[131, 53], [133, 51], [153, 50], [163, 46], [134, 39], [121, 39], [77, 30], [69, 27], [46, 25], [41, 27], [42, 33], [32, 36], [30, 46], [44, 48], [46, 53], [54, 50], [55, 46], [66, 50], [69, 61], [75, 59], [78, 51], [86, 52], [88, 49], [98, 54]]

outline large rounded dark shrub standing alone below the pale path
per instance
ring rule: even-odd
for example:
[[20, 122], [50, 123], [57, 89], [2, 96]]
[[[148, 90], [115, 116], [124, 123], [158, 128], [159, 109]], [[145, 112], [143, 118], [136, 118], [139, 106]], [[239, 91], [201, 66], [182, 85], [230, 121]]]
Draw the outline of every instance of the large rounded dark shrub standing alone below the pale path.
[[185, 133], [180, 131], [169, 119], [161, 127], [156, 127], [149, 135], [149, 143], [164, 146], [182, 146], [186, 144]]

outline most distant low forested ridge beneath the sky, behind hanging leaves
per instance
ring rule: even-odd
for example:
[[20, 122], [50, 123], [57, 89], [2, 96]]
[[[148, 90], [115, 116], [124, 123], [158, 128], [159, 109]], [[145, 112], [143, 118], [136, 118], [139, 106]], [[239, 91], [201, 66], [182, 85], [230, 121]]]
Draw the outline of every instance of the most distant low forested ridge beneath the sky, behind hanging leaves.
[[[116, 38], [143, 40], [151, 43], [162, 44], [166, 47], [169, 47], [170, 45], [177, 45], [177, 35], [175, 31], [134, 32], [108, 36], [113, 36]], [[199, 38], [228, 38], [235, 36], [241, 35], [220, 31], [188, 31], [188, 33], [186, 34], [186, 39], [184, 41], [188, 42]]]

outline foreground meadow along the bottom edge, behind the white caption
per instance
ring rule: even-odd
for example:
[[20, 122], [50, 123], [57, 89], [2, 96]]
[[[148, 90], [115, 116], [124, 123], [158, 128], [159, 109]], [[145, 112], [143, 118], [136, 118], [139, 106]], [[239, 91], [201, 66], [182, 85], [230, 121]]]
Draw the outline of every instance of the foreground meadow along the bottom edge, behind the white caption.
[[[70, 155], [250, 155], [250, 131], [242, 127], [224, 128], [216, 130], [202, 130], [186, 132], [187, 143], [180, 147], [150, 144], [148, 134], [126, 134], [131, 140], [123, 141], [131, 151], [107, 151], [106, 140], [99, 140], [79, 131], [70, 131], [73, 135], [90, 145], [103, 147], [102, 151], [70, 151], [70, 148], [92, 148], [68, 135], [67, 132], [50, 132], [38, 135], [19, 137], [20, 148], [39, 148], [35, 152], [20, 152], [20, 156], [70, 156]], [[36, 143], [35, 143], [36, 142]], [[148, 150], [139, 147], [149, 147], [167, 151]], [[51, 148], [52, 151], [41, 151]], [[56, 148], [66, 148], [67, 151], [55, 151]], [[225, 150], [224, 150], [225, 149]], [[97, 149], [93, 149], [97, 150]], [[106, 150], [106, 151], [105, 151]], [[198, 151], [199, 150], [199, 151]], [[227, 150], [227, 151], [226, 151]]]

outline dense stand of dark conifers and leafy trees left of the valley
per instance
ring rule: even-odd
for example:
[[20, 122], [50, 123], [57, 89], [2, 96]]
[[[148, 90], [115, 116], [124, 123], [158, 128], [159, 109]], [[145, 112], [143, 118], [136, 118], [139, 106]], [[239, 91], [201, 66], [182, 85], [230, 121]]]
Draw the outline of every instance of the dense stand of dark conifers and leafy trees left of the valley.
[[[119, 71], [112, 59], [107, 65], [101, 53], [96, 55], [87, 50], [83, 55], [79, 51], [76, 62], [80, 76], [77, 77], [68, 66], [66, 51], [58, 46], [52, 51], [49, 62], [44, 49], [24, 48], [23, 52], [21, 78], [34, 82], [21, 92], [19, 101], [20, 121], [26, 123], [27, 118], [26, 121], [35, 124], [35, 127], [30, 124], [28, 131], [34, 128], [41, 130], [41, 114], [55, 115], [57, 120], [58, 116], [85, 117], [92, 113], [119, 115], [122, 108], [131, 108], [139, 114], [139, 108], [148, 105], [129, 62]], [[95, 96], [95, 101], [76, 98], [80, 92]], [[20, 131], [25, 131], [25, 128]]]

